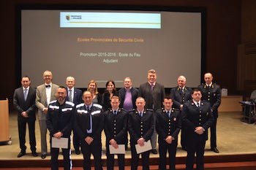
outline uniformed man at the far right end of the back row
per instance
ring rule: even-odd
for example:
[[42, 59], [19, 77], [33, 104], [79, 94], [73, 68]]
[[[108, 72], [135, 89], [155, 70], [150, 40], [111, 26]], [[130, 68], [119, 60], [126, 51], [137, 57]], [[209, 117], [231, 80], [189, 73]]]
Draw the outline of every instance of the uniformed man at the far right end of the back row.
[[213, 83], [212, 80], [214, 77], [211, 73], [206, 73], [204, 75], [205, 82], [202, 85], [199, 85], [198, 88], [202, 91], [202, 100], [208, 101], [211, 104], [211, 112], [214, 114], [214, 123], [212, 123], [211, 130], [211, 150], [219, 153], [217, 149], [217, 136], [216, 136], [216, 126], [218, 118], [218, 108], [222, 100], [222, 94], [220, 86]]

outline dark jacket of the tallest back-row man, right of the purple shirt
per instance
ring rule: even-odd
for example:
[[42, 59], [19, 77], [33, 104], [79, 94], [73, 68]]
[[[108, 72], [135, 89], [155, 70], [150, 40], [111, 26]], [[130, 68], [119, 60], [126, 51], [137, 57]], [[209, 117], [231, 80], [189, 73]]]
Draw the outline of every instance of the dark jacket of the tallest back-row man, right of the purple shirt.
[[151, 92], [151, 86], [148, 82], [140, 85], [139, 94], [138, 96], [141, 96], [146, 101], [146, 109], [161, 109], [162, 108], [162, 101], [164, 101], [165, 98], [165, 88], [163, 85], [160, 85], [156, 82], [156, 85], [154, 85], [153, 93]]

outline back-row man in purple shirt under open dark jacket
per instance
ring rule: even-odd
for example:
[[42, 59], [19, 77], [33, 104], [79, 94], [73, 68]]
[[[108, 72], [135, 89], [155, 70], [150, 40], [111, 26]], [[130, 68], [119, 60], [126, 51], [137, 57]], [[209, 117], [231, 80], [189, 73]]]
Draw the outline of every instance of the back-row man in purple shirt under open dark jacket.
[[[138, 98], [138, 89], [132, 87], [132, 80], [130, 77], [126, 77], [124, 79], [124, 88], [118, 90], [119, 98], [120, 98], [120, 107], [129, 111], [130, 109], [136, 109], [136, 98]], [[128, 135], [127, 135], [128, 136]], [[126, 137], [127, 142], [125, 143], [125, 147], [128, 146], [128, 137]]]

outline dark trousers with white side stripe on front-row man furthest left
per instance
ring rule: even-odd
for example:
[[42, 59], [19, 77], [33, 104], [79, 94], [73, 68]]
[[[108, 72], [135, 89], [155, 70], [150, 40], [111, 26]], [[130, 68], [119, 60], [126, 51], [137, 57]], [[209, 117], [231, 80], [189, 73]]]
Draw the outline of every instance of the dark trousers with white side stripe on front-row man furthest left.
[[[63, 162], [64, 162], [64, 170], [70, 170], [72, 169], [72, 161], [70, 159], [70, 137], [68, 140], [68, 147], [67, 149], [61, 149], [62, 155], [63, 155]], [[50, 166], [51, 170], [58, 170], [59, 169], [59, 163], [58, 163], [58, 157], [59, 157], [59, 148], [53, 148], [51, 147], [51, 136], [50, 136]]]

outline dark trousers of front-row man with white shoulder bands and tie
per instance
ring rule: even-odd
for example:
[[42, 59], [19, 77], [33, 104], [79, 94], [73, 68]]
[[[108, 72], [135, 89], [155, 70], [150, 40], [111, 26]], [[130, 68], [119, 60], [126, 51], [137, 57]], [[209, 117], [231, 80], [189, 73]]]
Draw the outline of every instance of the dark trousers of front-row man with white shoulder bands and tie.
[[83, 152], [83, 169], [91, 170], [91, 153], [94, 155], [95, 170], [102, 170], [102, 142], [101, 139], [94, 139], [91, 144], [81, 141], [81, 150]]

